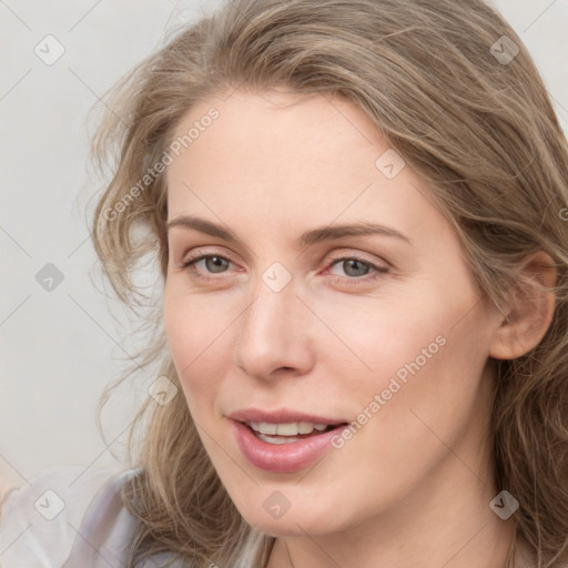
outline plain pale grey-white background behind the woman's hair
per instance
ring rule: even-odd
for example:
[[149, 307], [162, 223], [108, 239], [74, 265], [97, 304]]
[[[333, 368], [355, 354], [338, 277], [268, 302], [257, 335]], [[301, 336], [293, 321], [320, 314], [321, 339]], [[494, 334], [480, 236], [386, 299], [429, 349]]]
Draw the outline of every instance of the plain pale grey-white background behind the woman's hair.
[[[120, 305], [104, 296], [87, 225], [98, 190], [87, 171], [87, 114], [162, 44], [164, 30], [217, 4], [0, 0], [0, 486], [51, 465], [116, 464], [94, 416], [122, 368], [128, 331], [115, 321]], [[568, 0], [494, 6], [532, 53], [568, 132]], [[34, 53], [48, 34], [65, 50], [52, 65]], [[47, 263], [63, 274], [51, 292], [36, 281]], [[118, 452], [144, 392], [134, 395], [122, 393], [103, 415]]]

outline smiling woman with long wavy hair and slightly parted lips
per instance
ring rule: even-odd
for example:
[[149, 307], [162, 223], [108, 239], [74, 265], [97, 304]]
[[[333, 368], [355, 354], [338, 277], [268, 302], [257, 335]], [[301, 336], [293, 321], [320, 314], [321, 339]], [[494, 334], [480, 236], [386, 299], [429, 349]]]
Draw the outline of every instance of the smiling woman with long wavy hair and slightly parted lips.
[[566, 566], [568, 153], [510, 27], [235, 0], [114, 97], [93, 242], [133, 307], [156, 261], [161, 367], [65, 566]]

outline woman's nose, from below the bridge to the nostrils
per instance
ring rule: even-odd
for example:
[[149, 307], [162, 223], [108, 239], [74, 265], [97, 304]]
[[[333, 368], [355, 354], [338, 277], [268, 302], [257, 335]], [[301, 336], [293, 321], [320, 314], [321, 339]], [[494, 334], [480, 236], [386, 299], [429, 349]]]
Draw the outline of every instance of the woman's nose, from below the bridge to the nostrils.
[[235, 322], [235, 364], [251, 377], [300, 376], [313, 366], [311, 314], [293, 284], [274, 292], [260, 281], [253, 302]]

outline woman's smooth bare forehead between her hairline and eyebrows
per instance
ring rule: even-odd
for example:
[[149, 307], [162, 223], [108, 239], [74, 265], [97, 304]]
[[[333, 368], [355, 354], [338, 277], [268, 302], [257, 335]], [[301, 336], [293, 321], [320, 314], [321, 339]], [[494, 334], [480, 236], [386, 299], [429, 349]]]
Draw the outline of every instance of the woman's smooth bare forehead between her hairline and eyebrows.
[[[204, 120], [212, 109], [216, 118]], [[187, 142], [192, 129], [166, 173], [170, 219], [193, 213], [272, 230], [395, 217], [408, 231], [427, 217], [420, 209], [432, 210], [402, 156], [345, 98], [235, 91], [191, 109], [174, 140]], [[400, 169], [394, 176], [381, 169], [385, 155]]]

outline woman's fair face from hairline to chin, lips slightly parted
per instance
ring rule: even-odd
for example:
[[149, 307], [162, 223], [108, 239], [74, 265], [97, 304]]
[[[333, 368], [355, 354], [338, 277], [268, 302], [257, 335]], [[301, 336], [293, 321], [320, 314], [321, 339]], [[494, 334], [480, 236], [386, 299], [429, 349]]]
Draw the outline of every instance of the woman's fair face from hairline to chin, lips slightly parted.
[[497, 320], [410, 166], [339, 97], [236, 91], [178, 135], [165, 329], [245, 519], [324, 535], [477, 487]]

